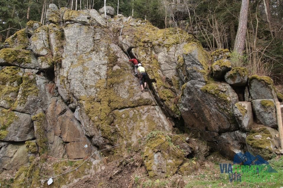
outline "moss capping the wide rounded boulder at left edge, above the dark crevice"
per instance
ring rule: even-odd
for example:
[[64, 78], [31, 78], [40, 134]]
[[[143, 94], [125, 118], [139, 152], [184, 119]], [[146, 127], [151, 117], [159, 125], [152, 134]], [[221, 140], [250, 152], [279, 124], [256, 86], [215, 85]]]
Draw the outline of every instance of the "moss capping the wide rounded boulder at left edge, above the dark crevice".
[[0, 58], [6, 63], [28, 64], [31, 63], [31, 52], [16, 48], [3, 48], [0, 50]]

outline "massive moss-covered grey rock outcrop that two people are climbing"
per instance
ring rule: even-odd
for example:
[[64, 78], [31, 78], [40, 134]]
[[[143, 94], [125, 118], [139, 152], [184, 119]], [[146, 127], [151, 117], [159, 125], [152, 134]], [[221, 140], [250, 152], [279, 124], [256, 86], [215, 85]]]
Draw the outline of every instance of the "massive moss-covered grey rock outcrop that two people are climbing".
[[[45, 25], [29, 21], [0, 50], [0, 172], [17, 171], [12, 187], [45, 187], [79, 167], [54, 184], [66, 186], [129, 152], [150, 177], [210, 151], [282, 154], [271, 78], [232, 67], [227, 49], [209, 54], [181, 29], [106, 8], [107, 20], [104, 9], [50, 4]], [[150, 91], [140, 91], [134, 57]]]

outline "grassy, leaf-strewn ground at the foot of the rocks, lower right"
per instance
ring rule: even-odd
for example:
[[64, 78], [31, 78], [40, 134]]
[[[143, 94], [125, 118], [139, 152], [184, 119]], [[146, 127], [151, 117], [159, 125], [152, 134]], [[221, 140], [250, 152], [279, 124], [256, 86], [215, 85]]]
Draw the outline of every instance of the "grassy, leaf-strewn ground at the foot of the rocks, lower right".
[[[223, 163], [222, 161], [221, 163]], [[228, 162], [228, 161], [226, 161]], [[228, 162], [232, 163], [232, 161]], [[174, 176], [167, 179], [151, 180], [147, 178], [135, 177], [136, 187], [184, 187], [184, 188], [280, 188], [283, 187], [283, 156], [269, 160], [269, 164], [277, 170], [278, 173], [268, 173], [270, 177], [266, 178], [264, 174], [241, 174], [241, 182], [230, 182], [228, 174], [220, 173], [219, 163], [207, 160], [200, 165], [195, 172], [186, 176]], [[141, 185], [142, 184], [142, 185]]]

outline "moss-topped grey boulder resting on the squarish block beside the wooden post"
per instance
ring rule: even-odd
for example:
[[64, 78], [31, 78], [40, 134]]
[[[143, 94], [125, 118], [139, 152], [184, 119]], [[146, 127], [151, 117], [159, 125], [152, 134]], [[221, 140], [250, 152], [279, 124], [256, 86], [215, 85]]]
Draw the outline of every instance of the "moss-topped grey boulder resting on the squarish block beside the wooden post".
[[273, 80], [268, 76], [251, 75], [249, 77], [249, 93], [252, 100], [273, 99], [278, 101]]

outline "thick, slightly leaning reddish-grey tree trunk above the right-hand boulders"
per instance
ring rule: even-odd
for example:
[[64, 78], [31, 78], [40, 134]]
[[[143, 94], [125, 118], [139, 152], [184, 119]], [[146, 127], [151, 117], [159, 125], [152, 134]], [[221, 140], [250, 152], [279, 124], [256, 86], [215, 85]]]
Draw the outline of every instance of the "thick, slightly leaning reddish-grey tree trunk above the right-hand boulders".
[[243, 55], [245, 40], [246, 40], [246, 31], [247, 31], [247, 21], [248, 21], [248, 9], [249, 9], [249, 0], [242, 0], [241, 11], [239, 16], [239, 25], [238, 31], [235, 39], [234, 51]]

